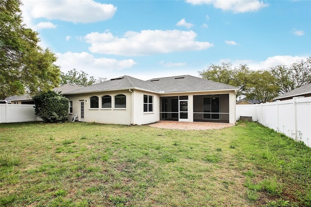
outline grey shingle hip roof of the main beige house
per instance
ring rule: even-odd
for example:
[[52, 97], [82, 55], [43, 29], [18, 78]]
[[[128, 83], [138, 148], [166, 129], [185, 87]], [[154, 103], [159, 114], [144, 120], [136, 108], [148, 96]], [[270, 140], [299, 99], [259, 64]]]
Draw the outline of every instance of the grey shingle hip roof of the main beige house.
[[173, 76], [165, 78], [154, 78], [142, 81], [131, 76], [121, 76], [91, 86], [86, 86], [64, 94], [79, 94], [109, 90], [141, 89], [155, 93], [172, 93], [186, 91], [207, 90], [238, 90], [238, 87], [229, 86], [191, 75]]

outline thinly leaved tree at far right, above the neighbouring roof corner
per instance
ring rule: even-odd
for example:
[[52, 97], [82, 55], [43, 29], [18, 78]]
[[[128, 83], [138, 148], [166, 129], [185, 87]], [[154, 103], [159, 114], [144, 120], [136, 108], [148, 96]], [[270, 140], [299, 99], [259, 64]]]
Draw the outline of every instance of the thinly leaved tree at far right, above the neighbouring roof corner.
[[275, 84], [280, 87], [280, 92], [287, 93], [296, 87], [311, 83], [311, 57], [299, 60], [290, 66], [272, 67], [270, 71], [276, 78]]

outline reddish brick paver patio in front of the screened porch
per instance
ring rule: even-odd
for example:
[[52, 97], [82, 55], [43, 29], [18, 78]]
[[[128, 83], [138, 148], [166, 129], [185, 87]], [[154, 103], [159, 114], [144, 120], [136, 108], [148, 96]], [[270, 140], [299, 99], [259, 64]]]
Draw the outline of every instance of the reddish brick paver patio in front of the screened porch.
[[179, 130], [212, 130], [234, 126], [233, 123], [214, 122], [180, 122], [180, 121], [159, 121], [149, 124], [151, 127]]

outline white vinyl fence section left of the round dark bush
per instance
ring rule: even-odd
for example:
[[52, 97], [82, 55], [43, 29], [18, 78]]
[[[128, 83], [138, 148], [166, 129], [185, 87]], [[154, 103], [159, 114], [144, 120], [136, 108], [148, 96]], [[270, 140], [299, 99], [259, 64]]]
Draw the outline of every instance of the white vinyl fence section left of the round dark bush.
[[42, 121], [35, 116], [35, 105], [0, 104], [0, 123]]

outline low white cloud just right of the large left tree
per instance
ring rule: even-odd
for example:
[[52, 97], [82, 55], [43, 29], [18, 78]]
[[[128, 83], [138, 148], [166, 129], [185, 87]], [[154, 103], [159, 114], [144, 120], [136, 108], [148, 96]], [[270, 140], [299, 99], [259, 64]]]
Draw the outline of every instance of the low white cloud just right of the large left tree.
[[89, 76], [103, 78], [116, 70], [129, 69], [137, 64], [133, 59], [95, 58], [87, 52], [56, 53], [56, 56], [58, 59], [55, 64], [61, 67], [62, 72], [75, 68], [86, 72]]

